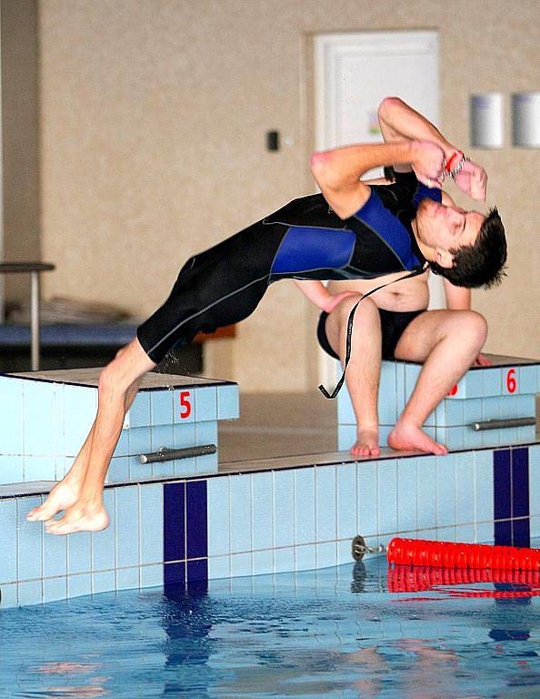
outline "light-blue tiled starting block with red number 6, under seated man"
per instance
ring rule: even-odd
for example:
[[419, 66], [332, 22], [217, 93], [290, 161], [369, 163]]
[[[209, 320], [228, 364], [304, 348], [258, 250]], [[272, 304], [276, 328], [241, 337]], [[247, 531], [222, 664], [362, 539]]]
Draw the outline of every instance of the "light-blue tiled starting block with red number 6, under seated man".
[[[424, 430], [450, 449], [533, 441], [535, 394], [540, 392], [540, 361], [487, 355], [489, 367], [474, 367], [427, 417]], [[339, 366], [339, 365], [338, 365]], [[379, 437], [387, 446], [406, 402], [415, 390], [421, 364], [382, 362], [379, 383]], [[355, 412], [344, 386], [337, 398], [339, 451], [356, 441]]]

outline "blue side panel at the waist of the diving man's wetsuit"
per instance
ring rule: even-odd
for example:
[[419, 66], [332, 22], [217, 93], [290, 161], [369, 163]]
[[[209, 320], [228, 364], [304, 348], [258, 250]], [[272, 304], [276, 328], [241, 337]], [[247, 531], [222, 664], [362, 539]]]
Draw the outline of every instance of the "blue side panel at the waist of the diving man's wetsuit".
[[272, 274], [340, 269], [349, 264], [355, 233], [345, 228], [291, 226], [275, 255]]

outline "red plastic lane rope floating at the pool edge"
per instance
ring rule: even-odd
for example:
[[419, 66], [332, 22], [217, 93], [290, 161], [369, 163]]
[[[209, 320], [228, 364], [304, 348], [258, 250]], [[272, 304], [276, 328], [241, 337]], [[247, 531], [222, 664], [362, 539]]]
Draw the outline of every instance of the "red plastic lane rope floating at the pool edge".
[[515, 546], [395, 538], [388, 544], [386, 557], [398, 565], [540, 572], [540, 549]]

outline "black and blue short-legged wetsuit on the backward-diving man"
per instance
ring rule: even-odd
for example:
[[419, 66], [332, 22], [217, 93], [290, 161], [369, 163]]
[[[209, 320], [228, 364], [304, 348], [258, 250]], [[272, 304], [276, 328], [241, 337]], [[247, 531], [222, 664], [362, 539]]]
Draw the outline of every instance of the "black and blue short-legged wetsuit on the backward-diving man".
[[198, 332], [247, 318], [278, 279], [374, 279], [425, 264], [411, 228], [423, 198], [441, 200], [413, 173], [372, 187], [342, 220], [321, 194], [295, 199], [214, 248], [187, 260], [164, 305], [138, 329], [156, 363]]

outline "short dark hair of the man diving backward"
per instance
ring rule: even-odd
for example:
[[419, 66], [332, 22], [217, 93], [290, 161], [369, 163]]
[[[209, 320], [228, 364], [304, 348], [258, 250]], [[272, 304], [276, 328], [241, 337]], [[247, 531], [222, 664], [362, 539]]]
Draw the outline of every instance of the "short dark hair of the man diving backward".
[[447, 269], [430, 262], [429, 268], [435, 274], [442, 275], [455, 287], [491, 289], [498, 286], [506, 276], [506, 238], [497, 209], [488, 212], [474, 245], [450, 252], [454, 255], [454, 266]]

